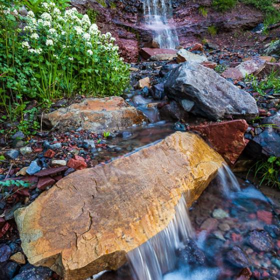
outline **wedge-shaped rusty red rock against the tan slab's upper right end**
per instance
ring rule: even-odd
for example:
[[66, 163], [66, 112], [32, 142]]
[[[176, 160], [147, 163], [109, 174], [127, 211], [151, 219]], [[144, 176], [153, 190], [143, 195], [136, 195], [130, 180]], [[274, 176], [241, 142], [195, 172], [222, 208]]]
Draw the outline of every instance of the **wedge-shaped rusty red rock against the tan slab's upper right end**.
[[223, 156], [227, 163], [234, 164], [247, 145], [244, 133], [248, 124], [244, 119], [210, 122], [190, 126], [189, 129], [198, 132]]

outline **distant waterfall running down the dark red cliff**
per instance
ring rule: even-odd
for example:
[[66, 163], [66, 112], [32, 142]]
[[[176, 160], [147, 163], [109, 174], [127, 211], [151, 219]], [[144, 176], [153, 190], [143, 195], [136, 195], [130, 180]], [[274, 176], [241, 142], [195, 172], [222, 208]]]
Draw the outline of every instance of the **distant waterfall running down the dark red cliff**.
[[[166, 3], [167, 2], [167, 3]], [[175, 48], [179, 45], [172, 20], [171, 0], [143, 0], [144, 23], [152, 30], [153, 39], [160, 48]]]

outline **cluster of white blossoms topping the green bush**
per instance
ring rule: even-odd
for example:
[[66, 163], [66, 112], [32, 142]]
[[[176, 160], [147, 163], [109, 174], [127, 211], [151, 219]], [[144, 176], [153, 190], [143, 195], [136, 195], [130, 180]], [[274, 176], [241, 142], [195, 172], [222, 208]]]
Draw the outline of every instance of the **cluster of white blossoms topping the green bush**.
[[[87, 14], [80, 15], [76, 8], [70, 8], [61, 12], [53, 2], [42, 3], [43, 12], [36, 18], [32, 11], [28, 11], [24, 27], [29, 37], [22, 42], [22, 47], [27, 48], [30, 53], [40, 54], [42, 48], [53, 47], [60, 53], [63, 49], [71, 48], [69, 37], [84, 45], [84, 49], [88, 56], [93, 55], [96, 47], [102, 51], [112, 51], [117, 55], [118, 46], [114, 45], [115, 38], [110, 32], [101, 34], [95, 23], [90, 22]], [[38, 47], [38, 42], [40, 46]], [[36, 47], [35, 47], [36, 46]], [[60, 49], [60, 50], [59, 50]], [[57, 52], [57, 53], [58, 53]], [[70, 55], [68, 60], [73, 61]], [[53, 57], [59, 55], [53, 54]]]

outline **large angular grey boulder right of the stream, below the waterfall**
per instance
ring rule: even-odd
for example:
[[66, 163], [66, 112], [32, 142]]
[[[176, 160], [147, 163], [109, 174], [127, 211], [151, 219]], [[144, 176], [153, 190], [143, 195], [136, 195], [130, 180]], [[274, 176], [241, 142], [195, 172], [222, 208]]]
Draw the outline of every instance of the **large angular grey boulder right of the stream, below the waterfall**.
[[180, 103], [193, 101], [190, 112], [211, 120], [228, 117], [250, 120], [258, 115], [256, 101], [249, 93], [193, 61], [184, 62], [171, 71], [164, 91]]

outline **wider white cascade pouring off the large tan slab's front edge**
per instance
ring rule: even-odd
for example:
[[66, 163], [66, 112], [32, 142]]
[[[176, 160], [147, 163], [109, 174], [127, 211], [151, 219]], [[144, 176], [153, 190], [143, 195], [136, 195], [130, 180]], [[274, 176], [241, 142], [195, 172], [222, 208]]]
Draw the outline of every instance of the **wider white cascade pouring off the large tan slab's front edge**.
[[128, 252], [129, 265], [135, 280], [161, 280], [163, 273], [174, 269], [175, 252], [181, 241], [194, 232], [188, 217], [185, 198], [175, 207], [175, 216], [168, 226], [147, 242]]

